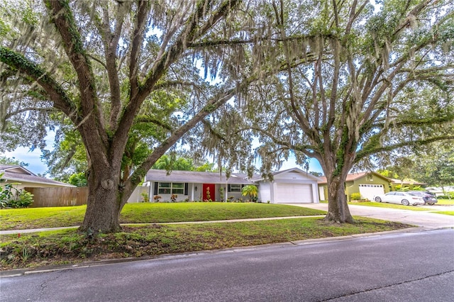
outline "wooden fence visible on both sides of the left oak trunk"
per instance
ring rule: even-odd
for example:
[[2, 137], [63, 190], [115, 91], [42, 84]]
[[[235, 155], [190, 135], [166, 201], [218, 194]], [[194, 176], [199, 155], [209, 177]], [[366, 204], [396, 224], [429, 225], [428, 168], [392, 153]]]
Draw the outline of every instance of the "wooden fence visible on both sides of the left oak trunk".
[[[128, 199], [128, 203], [143, 201], [142, 194], [148, 194], [148, 187], [138, 186]], [[82, 206], [87, 204], [88, 187], [60, 187], [60, 188], [25, 188], [33, 194], [33, 208], [45, 206]]]

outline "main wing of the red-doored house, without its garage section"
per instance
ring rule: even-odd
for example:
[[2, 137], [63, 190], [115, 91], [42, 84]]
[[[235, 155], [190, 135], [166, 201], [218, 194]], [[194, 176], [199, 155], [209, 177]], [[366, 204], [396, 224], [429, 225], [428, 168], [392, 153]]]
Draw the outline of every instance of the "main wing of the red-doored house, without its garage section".
[[[144, 185], [150, 186], [150, 201], [226, 201], [242, 198], [241, 189], [254, 184], [246, 174], [232, 173], [229, 178], [219, 172], [150, 170]], [[176, 195], [176, 196], [175, 196]]]

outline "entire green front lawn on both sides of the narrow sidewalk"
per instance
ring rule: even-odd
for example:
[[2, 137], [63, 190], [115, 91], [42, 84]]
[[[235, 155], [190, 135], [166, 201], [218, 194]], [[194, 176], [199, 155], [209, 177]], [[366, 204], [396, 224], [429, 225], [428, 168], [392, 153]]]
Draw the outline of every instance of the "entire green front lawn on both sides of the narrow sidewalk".
[[[78, 225], [85, 207], [27, 208], [0, 211], [3, 230]], [[160, 224], [238, 218], [324, 215], [299, 206], [267, 203], [133, 203], [124, 208], [121, 233], [92, 235], [77, 229], [1, 235], [1, 269], [76, 264], [84, 261], [218, 250], [277, 242], [409, 228], [410, 225], [355, 217], [353, 224], [323, 218], [289, 218], [249, 222]]]

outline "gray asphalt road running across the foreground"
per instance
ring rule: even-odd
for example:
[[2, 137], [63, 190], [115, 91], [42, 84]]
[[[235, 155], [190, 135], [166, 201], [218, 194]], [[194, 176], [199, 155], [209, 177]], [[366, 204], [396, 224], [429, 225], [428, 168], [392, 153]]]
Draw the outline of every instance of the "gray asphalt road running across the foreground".
[[454, 229], [0, 279], [1, 301], [454, 301]]

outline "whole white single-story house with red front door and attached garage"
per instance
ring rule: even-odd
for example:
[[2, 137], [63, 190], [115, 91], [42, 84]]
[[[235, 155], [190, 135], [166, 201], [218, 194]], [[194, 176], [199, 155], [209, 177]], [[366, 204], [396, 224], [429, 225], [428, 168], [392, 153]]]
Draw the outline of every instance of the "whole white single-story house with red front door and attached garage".
[[[170, 201], [176, 194], [176, 201], [226, 201], [229, 198], [248, 198], [242, 196], [243, 186], [258, 186], [260, 202], [266, 203], [314, 203], [319, 202], [317, 181], [314, 175], [300, 169], [275, 172], [272, 181], [255, 176], [249, 179], [246, 174], [232, 173], [230, 177], [219, 172], [148, 171], [144, 185], [150, 187], [150, 201], [161, 196], [162, 201]], [[221, 189], [222, 188], [222, 189]]]

